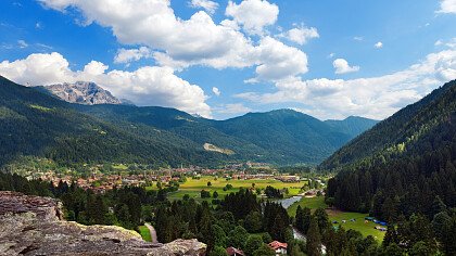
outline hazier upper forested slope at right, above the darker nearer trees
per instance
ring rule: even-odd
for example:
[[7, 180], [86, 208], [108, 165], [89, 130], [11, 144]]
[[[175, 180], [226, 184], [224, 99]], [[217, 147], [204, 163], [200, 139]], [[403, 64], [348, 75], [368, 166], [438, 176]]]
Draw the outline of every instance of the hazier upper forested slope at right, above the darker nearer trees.
[[[393, 156], [410, 151], [420, 139], [446, 124], [449, 113], [454, 111], [452, 97], [455, 81], [408, 105], [388, 119], [380, 121], [372, 129], [357, 137], [326, 159], [320, 167], [331, 169], [363, 161], [372, 155]], [[442, 103], [441, 101], [447, 102]], [[446, 105], [445, 105], [446, 104]]]

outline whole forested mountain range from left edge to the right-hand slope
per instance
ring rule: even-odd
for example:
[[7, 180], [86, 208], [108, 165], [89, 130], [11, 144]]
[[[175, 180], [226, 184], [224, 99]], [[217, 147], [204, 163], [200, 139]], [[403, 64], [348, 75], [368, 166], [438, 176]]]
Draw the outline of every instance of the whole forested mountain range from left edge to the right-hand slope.
[[[100, 91], [94, 84], [77, 85]], [[360, 128], [356, 121], [331, 125], [291, 110], [212, 120], [159, 106], [71, 104], [5, 78], [0, 90], [0, 131], [8, 135], [0, 138], [0, 165], [23, 156], [62, 164], [318, 164], [368, 128], [363, 121]]]

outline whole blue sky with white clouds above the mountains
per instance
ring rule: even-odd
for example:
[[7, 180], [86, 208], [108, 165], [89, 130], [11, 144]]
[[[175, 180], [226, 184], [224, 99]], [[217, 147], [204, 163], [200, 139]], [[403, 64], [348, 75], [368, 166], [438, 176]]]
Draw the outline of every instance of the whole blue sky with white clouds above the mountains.
[[2, 0], [0, 75], [226, 119], [383, 119], [456, 79], [456, 0]]

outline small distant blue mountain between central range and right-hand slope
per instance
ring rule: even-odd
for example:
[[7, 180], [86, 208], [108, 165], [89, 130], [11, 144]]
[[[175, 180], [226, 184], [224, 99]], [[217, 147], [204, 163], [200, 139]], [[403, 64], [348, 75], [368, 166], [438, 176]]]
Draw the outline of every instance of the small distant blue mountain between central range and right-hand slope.
[[343, 130], [352, 137], [357, 137], [364, 131], [372, 128], [379, 121], [359, 116], [349, 116], [343, 120], [329, 119], [325, 120], [325, 123], [338, 130]]

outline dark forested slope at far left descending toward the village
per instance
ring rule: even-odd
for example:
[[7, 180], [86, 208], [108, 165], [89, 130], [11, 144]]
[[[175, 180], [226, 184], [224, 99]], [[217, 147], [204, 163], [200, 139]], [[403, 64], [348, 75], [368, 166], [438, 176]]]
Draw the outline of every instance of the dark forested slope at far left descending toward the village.
[[0, 166], [24, 156], [63, 165], [147, 163], [208, 164], [224, 155], [186, 138], [140, 125], [116, 125], [78, 112], [34, 88], [0, 77]]

